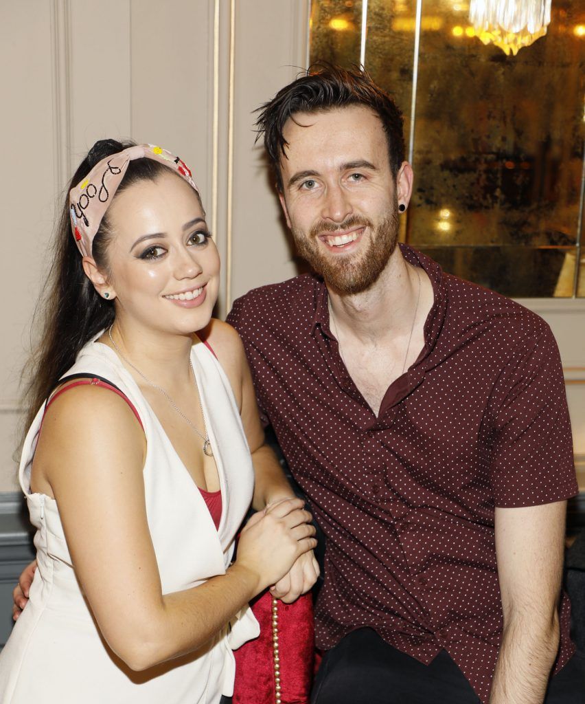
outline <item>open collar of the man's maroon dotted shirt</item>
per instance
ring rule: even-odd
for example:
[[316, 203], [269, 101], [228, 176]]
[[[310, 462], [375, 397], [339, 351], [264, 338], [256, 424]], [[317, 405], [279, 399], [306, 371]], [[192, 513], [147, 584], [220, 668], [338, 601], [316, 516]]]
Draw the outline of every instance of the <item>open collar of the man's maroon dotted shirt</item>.
[[[435, 347], [439, 333], [443, 327], [447, 307], [446, 282], [442, 268], [425, 254], [413, 249], [408, 244], [399, 244], [402, 256], [409, 264], [421, 267], [428, 275], [432, 284], [435, 301], [432, 304], [425, 322], [425, 348], [429, 353]], [[329, 328], [329, 296], [323, 279], [316, 279], [315, 315], [311, 326], [311, 334], [319, 327], [326, 337], [333, 337]]]

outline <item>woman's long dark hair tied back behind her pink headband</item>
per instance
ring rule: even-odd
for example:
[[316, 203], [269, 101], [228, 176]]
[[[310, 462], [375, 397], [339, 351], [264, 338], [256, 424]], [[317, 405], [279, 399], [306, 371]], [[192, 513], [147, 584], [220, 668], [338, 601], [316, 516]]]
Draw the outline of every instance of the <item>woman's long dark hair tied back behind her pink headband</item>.
[[[58, 379], [75, 362], [79, 350], [100, 330], [114, 322], [113, 301], [106, 301], [97, 293], [82, 268], [82, 256], [71, 232], [69, 191], [89, 174], [96, 163], [129, 146], [134, 146], [134, 142], [116, 142], [114, 139], [96, 142], [79, 164], [67, 187], [53, 243], [54, 256], [49, 280], [34, 313], [33, 329], [37, 327], [37, 321], [41, 320], [39, 343], [23, 372], [28, 379], [25, 389], [25, 432]], [[153, 159], [131, 161], [116, 195], [131, 184], [142, 180], [154, 181], [166, 172], [169, 169]], [[96, 265], [105, 272], [108, 272], [106, 250], [110, 235], [106, 211], [92, 245]], [[49, 295], [46, 295], [47, 291]]]

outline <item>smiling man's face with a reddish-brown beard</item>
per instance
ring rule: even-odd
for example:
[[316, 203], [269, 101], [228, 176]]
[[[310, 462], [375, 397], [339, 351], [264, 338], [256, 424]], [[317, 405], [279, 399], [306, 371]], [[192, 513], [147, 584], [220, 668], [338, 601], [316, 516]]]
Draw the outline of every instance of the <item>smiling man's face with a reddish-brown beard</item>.
[[300, 255], [338, 293], [365, 291], [399, 229], [382, 122], [369, 108], [349, 106], [296, 113], [283, 134], [281, 203]]

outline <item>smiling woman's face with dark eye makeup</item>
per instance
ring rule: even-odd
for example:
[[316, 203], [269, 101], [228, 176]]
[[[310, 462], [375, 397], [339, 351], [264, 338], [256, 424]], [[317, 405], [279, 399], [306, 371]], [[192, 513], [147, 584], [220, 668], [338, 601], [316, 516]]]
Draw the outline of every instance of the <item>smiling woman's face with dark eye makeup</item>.
[[117, 194], [108, 223], [117, 317], [179, 334], [205, 327], [217, 300], [219, 255], [195, 191], [170, 171], [140, 181]]

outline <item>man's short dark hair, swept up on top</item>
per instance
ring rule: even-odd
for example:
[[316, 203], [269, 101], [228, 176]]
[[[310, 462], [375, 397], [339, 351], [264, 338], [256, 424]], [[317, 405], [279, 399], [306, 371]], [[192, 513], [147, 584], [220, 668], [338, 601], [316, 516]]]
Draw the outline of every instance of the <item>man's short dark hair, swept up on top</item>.
[[396, 177], [404, 161], [402, 113], [392, 98], [378, 87], [364, 70], [346, 70], [329, 63], [316, 63], [304, 75], [278, 91], [271, 101], [258, 108], [258, 140], [264, 134], [264, 146], [276, 175], [276, 187], [283, 190], [281, 157], [286, 156], [288, 142], [283, 127], [295, 113], [317, 113], [364, 105], [371, 108], [386, 132], [392, 175]]

